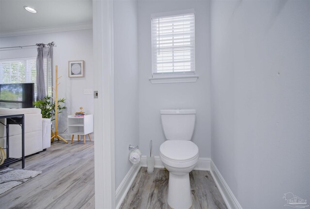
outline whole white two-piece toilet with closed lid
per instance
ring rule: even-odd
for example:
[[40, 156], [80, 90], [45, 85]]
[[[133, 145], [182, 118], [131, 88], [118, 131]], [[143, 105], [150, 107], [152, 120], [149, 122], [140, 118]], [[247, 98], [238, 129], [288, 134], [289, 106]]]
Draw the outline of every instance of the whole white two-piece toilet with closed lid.
[[161, 110], [167, 141], [160, 145], [160, 159], [169, 171], [168, 205], [189, 209], [192, 205], [189, 172], [198, 162], [198, 146], [191, 140], [196, 110]]

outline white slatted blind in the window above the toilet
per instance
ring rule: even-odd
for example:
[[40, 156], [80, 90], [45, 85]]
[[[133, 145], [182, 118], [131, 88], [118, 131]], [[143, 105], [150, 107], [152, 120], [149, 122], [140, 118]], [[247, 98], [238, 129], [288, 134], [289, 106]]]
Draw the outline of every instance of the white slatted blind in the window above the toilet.
[[195, 15], [152, 17], [152, 73], [195, 73]]

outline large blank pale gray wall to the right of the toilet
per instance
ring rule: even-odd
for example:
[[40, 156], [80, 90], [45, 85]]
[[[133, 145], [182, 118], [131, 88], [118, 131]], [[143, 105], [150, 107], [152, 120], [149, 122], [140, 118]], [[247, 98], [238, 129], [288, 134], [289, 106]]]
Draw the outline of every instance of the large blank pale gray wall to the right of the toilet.
[[309, 201], [310, 1], [211, 5], [212, 160], [244, 209]]

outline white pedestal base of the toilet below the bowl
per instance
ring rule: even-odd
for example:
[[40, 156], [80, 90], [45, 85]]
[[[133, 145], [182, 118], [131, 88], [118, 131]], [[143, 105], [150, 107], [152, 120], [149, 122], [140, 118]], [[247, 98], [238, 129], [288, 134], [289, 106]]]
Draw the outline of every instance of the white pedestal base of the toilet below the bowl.
[[189, 209], [192, 206], [189, 174], [169, 172], [168, 205], [172, 209]]

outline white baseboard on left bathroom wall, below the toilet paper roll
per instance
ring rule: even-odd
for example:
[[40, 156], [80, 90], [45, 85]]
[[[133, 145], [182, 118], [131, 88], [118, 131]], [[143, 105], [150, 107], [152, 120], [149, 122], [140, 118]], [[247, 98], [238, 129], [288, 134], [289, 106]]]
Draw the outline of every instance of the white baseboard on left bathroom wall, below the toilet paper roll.
[[120, 186], [116, 189], [115, 192], [115, 205], [116, 209], [119, 209], [127, 192], [129, 191], [132, 183], [134, 182], [139, 170], [140, 170], [140, 164], [133, 164], [131, 168], [129, 169], [128, 173], [124, 177], [123, 181], [121, 182]]

